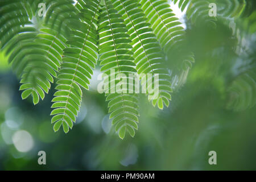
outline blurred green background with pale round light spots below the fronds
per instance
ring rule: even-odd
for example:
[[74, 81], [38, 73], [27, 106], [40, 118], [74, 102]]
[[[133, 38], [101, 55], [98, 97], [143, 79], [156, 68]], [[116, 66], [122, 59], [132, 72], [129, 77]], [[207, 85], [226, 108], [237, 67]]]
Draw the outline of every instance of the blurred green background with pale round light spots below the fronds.
[[[188, 51], [195, 55], [187, 82], [168, 109], [141, 96], [139, 130], [124, 140], [110, 128], [98, 71], [73, 129], [54, 133], [54, 89], [36, 106], [31, 98], [22, 101], [19, 80], [0, 52], [0, 169], [255, 170], [254, 8], [236, 21], [218, 19], [216, 28], [185, 21]], [[39, 151], [46, 151], [46, 165], [38, 164]], [[217, 165], [209, 165], [209, 151], [217, 152]]]

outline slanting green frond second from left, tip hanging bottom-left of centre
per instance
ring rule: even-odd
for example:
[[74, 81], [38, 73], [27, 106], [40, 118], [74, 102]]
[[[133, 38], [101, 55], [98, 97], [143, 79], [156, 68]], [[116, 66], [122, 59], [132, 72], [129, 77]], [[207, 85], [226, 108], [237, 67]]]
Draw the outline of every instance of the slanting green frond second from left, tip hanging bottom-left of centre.
[[[89, 2], [89, 1], [86, 1]], [[57, 86], [51, 115], [55, 131], [63, 126], [65, 133], [72, 129], [79, 111], [82, 90], [89, 89], [89, 80], [97, 60], [97, 16], [99, 1], [86, 3], [80, 13], [81, 26], [68, 39], [71, 47], [64, 49], [63, 63], [57, 76]]]

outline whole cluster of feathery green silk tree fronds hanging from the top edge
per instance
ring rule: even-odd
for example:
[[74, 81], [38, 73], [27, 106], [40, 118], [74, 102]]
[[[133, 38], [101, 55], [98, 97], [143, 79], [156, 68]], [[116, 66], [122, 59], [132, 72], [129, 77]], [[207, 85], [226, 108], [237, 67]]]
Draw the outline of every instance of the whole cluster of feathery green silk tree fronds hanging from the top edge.
[[[232, 6], [228, 0], [221, 2], [221, 15], [242, 15], [245, 1], [233, 1]], [[45, 5], [44, 16], [38, 15], [39, 3]], [[192, 23], [216, 20], [208, 16], [207, 0], [174, 3]], [[115, 84], [120, 84], [122, 75], [129, 78], [129, 73], [151, 73], [152, 80], [158, 75], [159, 95], [154, 100], [149, 92], [152, 85], [143, 79], [141, 85], [152, 105], [163, 109], [194, 62], [185, 30], [166, 0], [2, 0], [0, 15], [0, 47], [10, 54], [22, 98], [32, 96], [38, 104], [56, 84], [51, 113], [55, 131], [61, 126], [65, 133], [72, 129], [97, 64], [108, 76], [115, 71], [114, 77], [119, 78], [110, 80]], [[234, 86], [230, 90], [237, 90]], [[139, 121], [139, 94], [129, 93], [129, 84], [125, 88], [126, 92], [105, 94], [122, 139], [126, 133], [134, 137]]]

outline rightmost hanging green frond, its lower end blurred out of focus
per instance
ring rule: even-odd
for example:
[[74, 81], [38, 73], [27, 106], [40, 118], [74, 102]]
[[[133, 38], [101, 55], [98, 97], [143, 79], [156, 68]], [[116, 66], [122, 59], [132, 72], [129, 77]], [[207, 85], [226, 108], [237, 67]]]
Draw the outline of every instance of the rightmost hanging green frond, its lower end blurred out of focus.
[[153, 32], [167, 55], [173, 76], [172, 88], [178, 89], [184, 84], [194, 62], [192, 52], [184, 49], [187, 47], [184, 28], [172, 12], [168, 1], [141, 0], [140, 2], [147, 16], [147, 22], [151, 24]]

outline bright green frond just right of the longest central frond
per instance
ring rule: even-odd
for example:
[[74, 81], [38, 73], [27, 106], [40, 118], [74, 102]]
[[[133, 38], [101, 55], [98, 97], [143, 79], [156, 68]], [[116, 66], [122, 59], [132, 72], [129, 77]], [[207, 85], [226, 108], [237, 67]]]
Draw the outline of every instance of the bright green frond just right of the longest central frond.
[[[168, 71], [164, 68], [165, 60], [158, 40], [155, 38], [150, 23], [146, 22], [147, 18], [143, 14], [142, 9], [139, 9], [137, 1], [113, 1], [115, 9], [122, 14], [125, 24], [129, 28], [132, 51], [137, 65], [138, 74], [152, 74], [159, 76], [159, 96], [152, 100], [152, 104], [158, 104], [160, 109], [163, 109], [163, 104], [167, 107], [171, 100], [171, 78]], [[142, 76], [141, 76], [142, 78]], [[142, 85], [146, 83], [143, 82]], [[154, 85], [154, 84], [153, 84]], [[147, 92], [150, 93], [150, 84], [147, 84]], [[150, 96], [149, 96], [150, 98]]]

